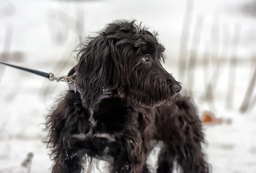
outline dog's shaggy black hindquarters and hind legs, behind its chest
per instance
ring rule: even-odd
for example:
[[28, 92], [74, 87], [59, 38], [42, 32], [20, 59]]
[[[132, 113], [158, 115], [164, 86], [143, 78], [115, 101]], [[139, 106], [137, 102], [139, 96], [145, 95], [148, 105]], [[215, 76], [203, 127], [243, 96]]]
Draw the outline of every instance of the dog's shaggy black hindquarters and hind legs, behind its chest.
[[189, 98], [158, 107], [157, 139], [163, 141], [157, 173], [171, 173], [177, 161], [183, 173], [209, 173], [201, 144], [202, 124]]

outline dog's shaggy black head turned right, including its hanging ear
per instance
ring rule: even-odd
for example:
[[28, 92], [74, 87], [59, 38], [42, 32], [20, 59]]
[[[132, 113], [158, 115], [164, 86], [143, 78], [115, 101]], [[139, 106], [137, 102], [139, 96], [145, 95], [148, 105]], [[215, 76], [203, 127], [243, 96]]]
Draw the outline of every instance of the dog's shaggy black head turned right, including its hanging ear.
[[179, 82], [161, 64], [165, 48], [157, 34], [134, 22], [108, 24], [80, 50], [76, 81], [86, 107], [98, 103], [104, 88], [146, 107], [171, 101], [181, 91]]

